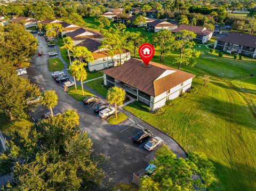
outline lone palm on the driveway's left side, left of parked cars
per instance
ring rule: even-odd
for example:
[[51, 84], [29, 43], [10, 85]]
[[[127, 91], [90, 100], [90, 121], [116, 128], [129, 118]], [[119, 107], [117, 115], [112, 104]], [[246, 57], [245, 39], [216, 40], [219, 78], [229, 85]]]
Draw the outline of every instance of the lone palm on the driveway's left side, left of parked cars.
[[55, 93], [55, 91], [54, 90], [46, 90], [42, 94], [40, 102], [43, 106], [46, 106], [51, 110], [51, 114], [53, 117], [52, 107], [54, 107], [58, 103], [58, 96]]

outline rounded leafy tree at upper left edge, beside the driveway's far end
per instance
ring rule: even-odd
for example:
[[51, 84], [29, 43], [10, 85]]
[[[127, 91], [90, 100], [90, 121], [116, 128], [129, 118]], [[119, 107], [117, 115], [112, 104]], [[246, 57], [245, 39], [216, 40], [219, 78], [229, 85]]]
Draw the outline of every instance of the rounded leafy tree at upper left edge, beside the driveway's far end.
[[21, 24], [0, 26], [0, 34], [0, 56], [7, 57], [15, 67], [20, 67], [37, 49], [36, 38]]

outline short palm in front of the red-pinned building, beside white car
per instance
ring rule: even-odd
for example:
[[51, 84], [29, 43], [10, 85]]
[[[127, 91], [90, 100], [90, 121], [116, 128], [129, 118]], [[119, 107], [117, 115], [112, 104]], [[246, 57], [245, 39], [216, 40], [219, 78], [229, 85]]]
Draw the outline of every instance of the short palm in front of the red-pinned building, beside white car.
[[111, 87], [107, 92], [107, 100], [110, 104], [115, 103], [115, 113], [117, 119], [117, 104], [122, 105], [125, 99], [125, 90], [118, 87]]

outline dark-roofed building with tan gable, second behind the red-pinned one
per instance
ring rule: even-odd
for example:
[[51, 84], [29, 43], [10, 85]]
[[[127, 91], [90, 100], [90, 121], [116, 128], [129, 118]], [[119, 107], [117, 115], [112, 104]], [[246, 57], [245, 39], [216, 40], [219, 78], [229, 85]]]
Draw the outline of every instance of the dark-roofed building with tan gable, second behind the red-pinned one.
[[95, 40], [102, 40], [103, 35], [100, 34], [98, 31], [89, 30], [83, 27], [80, 27], [79, 29], [76, 29], [72, 32], [67, 32], [65, 34], [67, 37], [71, 37], [73, 39], [73, 44], [77, 45], [81, 43], [86, 38], [92, 38]]

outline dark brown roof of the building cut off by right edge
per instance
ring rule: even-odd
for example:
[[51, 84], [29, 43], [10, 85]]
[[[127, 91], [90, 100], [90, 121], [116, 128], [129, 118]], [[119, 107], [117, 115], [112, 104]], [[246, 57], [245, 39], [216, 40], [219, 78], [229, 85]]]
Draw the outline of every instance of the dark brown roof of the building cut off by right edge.
[[218, 38], [217, 40], [223, 41], [226, 43], [233, 43], [233, 44], [237, 44], [237, 45], [256, 48], [256, 36], [255, 35], [247, 35], [247, 34], [242, 34], [240, 32], [231, 32], [231, 34], [229, 34], [228, 36]]

